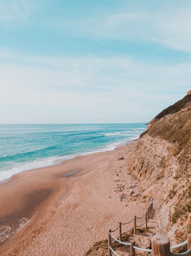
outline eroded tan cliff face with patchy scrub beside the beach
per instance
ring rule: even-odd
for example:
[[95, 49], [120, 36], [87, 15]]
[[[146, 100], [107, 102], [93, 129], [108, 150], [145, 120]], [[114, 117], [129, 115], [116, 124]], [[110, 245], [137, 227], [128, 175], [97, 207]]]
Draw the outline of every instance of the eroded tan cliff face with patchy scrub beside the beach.
[[[149, 123], [128, 163], [128, 170], [138, 178], [144, 194], [152, 197], [160, 210], [156, 232], [168, 236], [172, 243], [183, 241], [191, 233], [189, 95], [184, 98], [185, 104], [181, 101], [170, 106]], [[173, 113], [168, 114], [171, 109]]]

